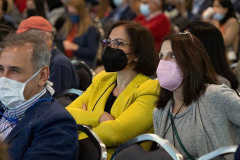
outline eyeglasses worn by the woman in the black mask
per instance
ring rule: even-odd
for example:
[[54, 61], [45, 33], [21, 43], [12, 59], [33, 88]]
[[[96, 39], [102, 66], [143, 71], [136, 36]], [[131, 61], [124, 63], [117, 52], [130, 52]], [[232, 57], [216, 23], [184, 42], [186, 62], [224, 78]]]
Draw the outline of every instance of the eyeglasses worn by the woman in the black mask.
[[103, 48], [109, 45], [112, 49], [118, 49], [119, 46], [130, 46], [130, 44], [128, 44], [122, 39], [102, 39], [101, 45]]

